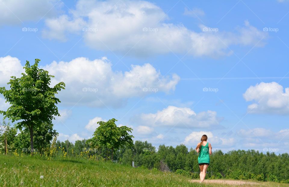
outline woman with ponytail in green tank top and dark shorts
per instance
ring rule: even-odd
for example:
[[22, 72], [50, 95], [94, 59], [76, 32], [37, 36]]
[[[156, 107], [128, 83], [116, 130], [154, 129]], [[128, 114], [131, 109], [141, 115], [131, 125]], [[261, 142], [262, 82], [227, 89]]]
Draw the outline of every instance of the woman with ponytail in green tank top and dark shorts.
[[207, 135], [204, 134], [201, 138], [201, 142], [198, 143], [196, 151], [199, 153], [198, 163], [200, 167], [200, 183], [204, 182], [206, 177], [206, 172], [210, 164], [210, 155], [212, 155], [212, 146], [207, 142]]

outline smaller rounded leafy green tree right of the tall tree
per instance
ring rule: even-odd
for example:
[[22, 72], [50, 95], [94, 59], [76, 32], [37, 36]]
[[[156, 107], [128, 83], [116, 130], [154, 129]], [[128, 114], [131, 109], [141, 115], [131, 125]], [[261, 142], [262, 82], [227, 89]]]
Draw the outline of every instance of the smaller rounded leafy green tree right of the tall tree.
[[[112, 118], [107, 122], [98, 121], [99, 127], [95, 130], [93, 138], [89, 140], [95, 146], [104, 146], [106, 149], [111, 150], [111, 160], [113, 160], [114, 150], [119, 149], [121, 146], [133, 146], [133, 136], [129, 135], [132, 128], [121, 126], [117, 127], [115, 124], [116, 119]], [[108, 153], [106, 152], [106, 157]]]

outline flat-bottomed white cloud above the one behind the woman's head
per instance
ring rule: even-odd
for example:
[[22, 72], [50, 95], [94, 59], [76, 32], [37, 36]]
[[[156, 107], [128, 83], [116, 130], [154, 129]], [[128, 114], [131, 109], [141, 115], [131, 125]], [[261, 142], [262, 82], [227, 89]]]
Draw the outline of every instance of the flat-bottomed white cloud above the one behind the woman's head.
[[195, 113], [190, 108], [176, 106], [168, 106], [156, 113], [141, 114], [140, 118], [150, 125], [200, 128], [218, 127], [222, 120], [214, 111]]

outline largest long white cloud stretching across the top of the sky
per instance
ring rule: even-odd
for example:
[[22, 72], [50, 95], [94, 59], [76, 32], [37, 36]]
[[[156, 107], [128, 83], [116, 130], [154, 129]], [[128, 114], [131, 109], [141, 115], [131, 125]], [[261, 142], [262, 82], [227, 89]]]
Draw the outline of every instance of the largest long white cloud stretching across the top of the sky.
[[[204, 12], [194, 9], [185, 14]], [[170, 52], [216, 57], [230, 54], [228, 46], [255, 45], [268, 35], [248, 21], [235, 32], [221, 32], [204, 25], [194, 31], [166, 20], [168, 15], [147, 1], [79, 0], [73, 14], [46, 19], [43, 36], [66, 41], [67, 34], [81, 34], [91, 48], [138, 57]]]

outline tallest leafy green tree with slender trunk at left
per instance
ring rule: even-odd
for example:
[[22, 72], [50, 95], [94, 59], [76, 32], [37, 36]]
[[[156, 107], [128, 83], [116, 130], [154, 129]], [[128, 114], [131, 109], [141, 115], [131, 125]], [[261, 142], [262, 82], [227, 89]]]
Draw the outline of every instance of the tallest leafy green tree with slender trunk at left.
[[49, 87], [51, 78], [48, 71], [38, 68], [39, 59], [35, 59], [33, 66], [26, 61], [25, 73], [22, 77], [12, 76], [7, 84], [10, 84], [10, 90], [5, 87], [0, 88], [0, 94], [11, 106], [7, 111], [0, 111], [5, 118], [12, 122], [22, 120], [16, 124], [20, 130], [23, 127], [30, 131], [30, 146], [33, 152], [33, 130], [40, 128], [42, 123], [52, 124], [54, 116], [60, 116], [56, 104], [60, 100], [54, 95], [57, 91], [65, 89], [64, 82]]

